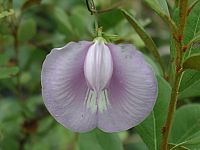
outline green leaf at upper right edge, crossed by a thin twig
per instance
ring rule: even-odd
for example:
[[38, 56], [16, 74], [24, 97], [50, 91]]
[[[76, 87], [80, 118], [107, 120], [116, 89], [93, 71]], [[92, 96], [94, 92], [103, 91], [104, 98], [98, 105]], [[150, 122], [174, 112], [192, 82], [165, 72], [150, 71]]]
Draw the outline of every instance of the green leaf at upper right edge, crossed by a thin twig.
[[[186, 27], [184, 31], [184, 44], [188, 44], [192, 39], [194, 39], [200, 32], [200, 1], [193, 7], [189, 16], [187, 17]], [[186, 54], [185, 59], [190, 57], [194, 53], [200, 52], [199, 44], [194, 44], [191, 46]]]

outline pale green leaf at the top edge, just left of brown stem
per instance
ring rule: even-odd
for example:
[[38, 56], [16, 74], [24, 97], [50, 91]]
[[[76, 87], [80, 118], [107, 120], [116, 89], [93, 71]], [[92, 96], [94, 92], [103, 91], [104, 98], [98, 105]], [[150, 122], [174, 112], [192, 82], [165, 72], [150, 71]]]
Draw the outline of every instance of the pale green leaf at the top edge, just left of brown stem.
[[169, 15], [169, 9], [166, 0], [144, 0], [157, 13]]

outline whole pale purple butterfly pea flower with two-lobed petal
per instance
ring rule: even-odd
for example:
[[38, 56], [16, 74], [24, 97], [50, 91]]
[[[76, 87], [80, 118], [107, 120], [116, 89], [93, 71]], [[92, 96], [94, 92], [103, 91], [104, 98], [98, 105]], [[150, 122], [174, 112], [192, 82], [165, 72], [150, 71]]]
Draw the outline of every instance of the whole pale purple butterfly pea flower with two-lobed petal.
[[143, 55], [102, 37], [53, 49], [41, 79], [48, 111], [75, 132], [132, 128], [150, 114], [157, 97], [157, 80]]

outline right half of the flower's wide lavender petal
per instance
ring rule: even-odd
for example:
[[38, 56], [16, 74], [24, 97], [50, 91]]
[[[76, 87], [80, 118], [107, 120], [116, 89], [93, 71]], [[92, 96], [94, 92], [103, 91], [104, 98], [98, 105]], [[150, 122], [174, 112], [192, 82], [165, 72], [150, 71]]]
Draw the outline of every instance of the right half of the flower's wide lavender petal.
[[157, 97], [157, 81], [133, 46], [108, 44], [108, 47], [114, 68], [105, 96], [106, 109], [98, 111], [98, 127], [116, 132], [136, 126], [149, 115]]

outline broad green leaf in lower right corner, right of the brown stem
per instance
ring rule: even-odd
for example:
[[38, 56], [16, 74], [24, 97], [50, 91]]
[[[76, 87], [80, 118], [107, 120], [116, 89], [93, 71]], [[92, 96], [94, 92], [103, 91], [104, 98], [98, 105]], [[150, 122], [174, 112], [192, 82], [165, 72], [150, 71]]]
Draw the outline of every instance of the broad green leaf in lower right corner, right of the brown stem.
[[[200, 105], [190, 104], [179, 108], [175, 113], [170, 134], [170, 142], [187, 148], [200, 148]], [[194, 142], [195, 145], [192, 145]]]

